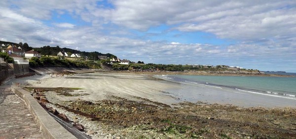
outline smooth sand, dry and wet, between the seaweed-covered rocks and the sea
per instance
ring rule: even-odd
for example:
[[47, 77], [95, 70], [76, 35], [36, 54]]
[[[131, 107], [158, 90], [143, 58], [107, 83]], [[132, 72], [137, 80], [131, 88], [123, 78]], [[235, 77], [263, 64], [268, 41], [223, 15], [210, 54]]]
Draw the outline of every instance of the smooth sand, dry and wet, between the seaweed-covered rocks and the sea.
[[85, 73], [58, 77], [47, 75], [40, 81], [33, 80], [35, 77], [31, 78], [27, 82], [34, 87], [79, 88], [80, 90], [75, 90], [73, 93], [87, 94], [83, 96], [60, 97], [59, 99], [61, 100], [75, 100], [79, 98], [87, 101], [98, 101], [110, 99], [111, 96], [118, 96], [129, 100], [146, 98], [168, 105], [184, 101], [192, 103], [202, 101], [209, 104], [232, 104], [241, 107], [296, 108], [296, 99], [205, 85], [173, 83], [157, 80], [151, 75]]

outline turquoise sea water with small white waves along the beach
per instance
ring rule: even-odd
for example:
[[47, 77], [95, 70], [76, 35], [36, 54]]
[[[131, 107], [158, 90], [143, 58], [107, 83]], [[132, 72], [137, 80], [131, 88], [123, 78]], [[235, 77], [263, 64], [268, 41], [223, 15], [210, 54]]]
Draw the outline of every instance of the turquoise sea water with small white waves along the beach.
[[167, 75], [167, 78], [175, 82], [206, 84], [296, 98], [296, 77]]

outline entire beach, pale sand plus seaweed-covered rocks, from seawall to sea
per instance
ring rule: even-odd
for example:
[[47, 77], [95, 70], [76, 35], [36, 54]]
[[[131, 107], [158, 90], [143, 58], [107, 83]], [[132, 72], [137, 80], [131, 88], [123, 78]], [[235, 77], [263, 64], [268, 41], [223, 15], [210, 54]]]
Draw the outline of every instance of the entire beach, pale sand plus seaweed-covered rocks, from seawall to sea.
[[294, 99], [127, 73], [44, 74], [5, 84], [12, 82], [73, 88], [45, 92], [47, 106], [83, 125], [93, 139], [296, 137]]

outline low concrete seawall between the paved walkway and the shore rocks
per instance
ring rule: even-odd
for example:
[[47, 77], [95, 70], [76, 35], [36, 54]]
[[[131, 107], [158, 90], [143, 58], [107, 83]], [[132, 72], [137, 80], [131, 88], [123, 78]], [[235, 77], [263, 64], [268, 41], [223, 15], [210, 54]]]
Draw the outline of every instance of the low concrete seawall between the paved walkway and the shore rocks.
[[55, 121], [53, 117], [42, 108], [31, 93], [19, 87], [11, 87], [11, 90], [25, 101], [45, 139], [77, 139]]

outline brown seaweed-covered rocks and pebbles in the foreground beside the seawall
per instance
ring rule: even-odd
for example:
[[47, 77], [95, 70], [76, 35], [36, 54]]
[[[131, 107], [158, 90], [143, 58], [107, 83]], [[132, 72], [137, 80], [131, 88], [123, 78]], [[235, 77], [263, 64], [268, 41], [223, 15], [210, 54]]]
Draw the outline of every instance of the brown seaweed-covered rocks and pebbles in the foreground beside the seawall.
[[76, 93], [60, 92], [65, 91], [43, 92], [48, 100], [43, 102], [65, 114], [70, 122], [82, 125], [92, 139], [296, 139], [293, 108], [241, 108], [203, 102], [170, 106], [146, 98], [134, 101], [117, 96], [96, 102], [63, 101], [56, 96]]

